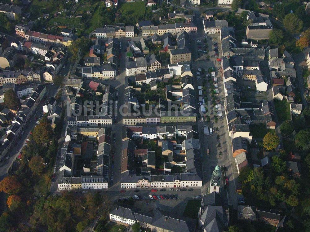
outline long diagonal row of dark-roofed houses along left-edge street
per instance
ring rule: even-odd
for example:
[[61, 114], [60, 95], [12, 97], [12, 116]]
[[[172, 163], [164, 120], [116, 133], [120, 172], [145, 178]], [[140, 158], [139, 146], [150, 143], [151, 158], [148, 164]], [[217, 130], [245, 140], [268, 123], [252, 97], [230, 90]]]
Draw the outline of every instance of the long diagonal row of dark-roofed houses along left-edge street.
[[45, 96], [46, 91], [45, 85], [38, 85], [24, 101], [20, 110], [18, 110], [16, 117], [12, 120], [11, 125], [7, 128], [7, 136], [4, 138], [0, 146], [0, 160], [4, 159], [20, 133], [23, 132], [24, 126]]

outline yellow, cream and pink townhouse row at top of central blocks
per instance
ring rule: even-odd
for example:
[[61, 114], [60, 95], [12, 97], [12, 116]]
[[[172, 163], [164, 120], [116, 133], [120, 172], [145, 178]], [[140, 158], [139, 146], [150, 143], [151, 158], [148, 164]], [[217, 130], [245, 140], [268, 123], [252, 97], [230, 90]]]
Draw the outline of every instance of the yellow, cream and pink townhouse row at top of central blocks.
[[142, 36], [152, 36], [155, 33], [159, 36], [166, 33], [176, 35], [179, 32], [197, 33], [197, 26], [193, 23], [175, 23], [175, 24], [160, 24], [158, 26], [143, 26]]

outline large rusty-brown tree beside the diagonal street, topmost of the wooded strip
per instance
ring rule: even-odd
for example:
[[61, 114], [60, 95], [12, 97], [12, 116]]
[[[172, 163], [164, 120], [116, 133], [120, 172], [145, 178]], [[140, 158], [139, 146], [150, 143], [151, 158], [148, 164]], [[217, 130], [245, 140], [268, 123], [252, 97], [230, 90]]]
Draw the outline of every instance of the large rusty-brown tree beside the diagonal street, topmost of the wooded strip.
[[48, 123], [47, 118], [43, 117], [34, 129], [33, 129], [33, 139], [37, 144], [43, 144], [51, 139], [53, 134], [51, 125]]

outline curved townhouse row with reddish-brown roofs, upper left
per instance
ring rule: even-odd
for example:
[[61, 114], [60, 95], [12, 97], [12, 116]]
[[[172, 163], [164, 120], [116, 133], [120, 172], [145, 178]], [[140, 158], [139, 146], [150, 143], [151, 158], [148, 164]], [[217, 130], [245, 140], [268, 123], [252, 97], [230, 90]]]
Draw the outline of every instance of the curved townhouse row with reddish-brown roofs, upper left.
[[15, 26], [15, 32], [17, 36], [23, 37], [26, 40], [35, 43], [50, 44], [64, 47], [69, 47], [73, 43], [72, 37], [48, 35], [36, 31], [31, 31], [29, 30], [29, 27], [22, 24], [17, 24]]

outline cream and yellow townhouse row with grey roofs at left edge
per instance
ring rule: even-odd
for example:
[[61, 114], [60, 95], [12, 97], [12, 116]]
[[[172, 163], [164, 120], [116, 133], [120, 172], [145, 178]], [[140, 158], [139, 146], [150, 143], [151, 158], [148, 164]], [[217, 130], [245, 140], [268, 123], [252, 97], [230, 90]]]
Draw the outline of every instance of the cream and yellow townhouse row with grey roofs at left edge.
[[0, 73], [0, 86], [5, 83], [24, 84], [26, 82], [40, 82], [41, 75], [40, 70], [33, 70], [27, 68], [20, 71], [9, 71], [5, 70]]

